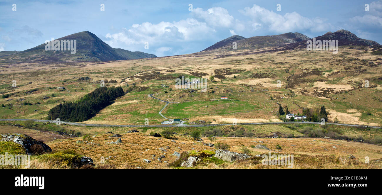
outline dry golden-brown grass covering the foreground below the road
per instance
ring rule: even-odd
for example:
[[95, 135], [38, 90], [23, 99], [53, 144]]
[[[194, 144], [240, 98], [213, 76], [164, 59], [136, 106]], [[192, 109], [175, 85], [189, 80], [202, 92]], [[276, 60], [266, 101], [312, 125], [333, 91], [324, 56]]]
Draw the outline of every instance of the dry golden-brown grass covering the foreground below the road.
[[[76, 138], [49, 145], [53, 151], [74, 149], [81, 155], [91, 157], [96, 168], [137, 168], [138, 166], [141, 168], [169, 168], [166, 166], [167, 163], [163, 161], [167, 161], [168, 163], [174, 161], [176, 159], [176, 157], [172, 155], [174, 151], [181, 153], [193, 149], [199, 151], [204, 149], [214, 150], [214, 148], [205, 146], [201, 142], [196, 142], [192, 138], [180, 135], [173, 136], [173, 139], [176, 141], [175, 143], [172, 142], [172, 139], [165, 139], [163, 137], [157, 138], [143, 133], [127, 133], [121, 137], [121, 144], [106, 144], [107, 142], [116, 141], [118, 139], [115, 137], [110, 138], [110, 135], [112, 134], [100, 134], [91, 137], [88, 143], [92, 142], [93, 144], [76, 143], [77, 140], [82, 140], [82, 138]], [[205, 143], [210, 142], [206, 137], [203, 139]], [[260, 143], [259, 141], [263, 141], [264, 143]], [[181, 144], [182, 142], [184, 144]], [[218, 137], [213, 143], [216, 144], [217, 142], [230, 145], [229, 150], [233, 152], [242, 152], [241, 149], [247, 147], [251, 151], [251, 156], [268, 152], [293, 154], [295, 156], [294, 168], [382, 168], [381, 163], [363, 163], [366, 156], [368, 156], [371, 161], [382, 158], [382, 147], [372, 144], [332, 139], [246, 137]], [[251, 145], [257, 144], [266, 145], [272, 151], [254, 149], [251, 147]], [[277, 144], [282, 146], [282, 150], [276, 149]], [[332, 146], [337, 147], [337, 149]], [[159, 150], [160, 147], [167, 150], [167, 152]], [[180, 147], [180, 149], [178, 147]], [[155, 155], [155, 160], [152, 159], [152, 155]], [[161, 155], [165, 155], [166, 157], [162, 159], [162, 163], [157, 160]], [[357, 159], [347, 160], [349, 155], [354, 155]], [[102, 164], [100, 163], [101, 157], [110, 158], [108, 160], [105, 159], [105, 164]], [[340, 158], [342, 160], [338, 161]], [[143, 159], [151, 160], [151, 163], [144, 163]], [[219, 165], [215, 163], [200, 164], [196, 168], [287, 168], [281, 165], [262, 165], [261, 163], [259, 164], [257, 160], [236, 161], [234, 163], [225, 162]]]

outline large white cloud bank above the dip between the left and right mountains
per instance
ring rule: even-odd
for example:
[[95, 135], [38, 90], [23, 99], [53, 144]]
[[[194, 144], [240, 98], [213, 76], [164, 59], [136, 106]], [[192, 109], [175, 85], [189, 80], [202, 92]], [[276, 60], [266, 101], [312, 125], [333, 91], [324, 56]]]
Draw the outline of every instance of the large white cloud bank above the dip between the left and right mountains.
[[[157, 56], [162, 56], [168, 51], [175, 52], [172, 48], [173, 45], [180, 47], [180, 51], [183, 48], [182, 44], [206, 40], [206, 38], [212, 37], [211, 33], [216, 32], [205, 22], [199, 22], [193, 18], [178, 22], [162, 21], [158, 24], [144, 22], [133, 24], [130, 28], [122, 28], [119, 31], [113, 34], [108, 33], [105, 36], [107, 38], [105, 42], [113, 48], [128, 48], [128, 50], [146, 53], [154, 52]], [[144, 50], [145, 42], [149, 43], [149, 50]], [[172, 50], [165, 50], [165, 48], [172, 48]]]

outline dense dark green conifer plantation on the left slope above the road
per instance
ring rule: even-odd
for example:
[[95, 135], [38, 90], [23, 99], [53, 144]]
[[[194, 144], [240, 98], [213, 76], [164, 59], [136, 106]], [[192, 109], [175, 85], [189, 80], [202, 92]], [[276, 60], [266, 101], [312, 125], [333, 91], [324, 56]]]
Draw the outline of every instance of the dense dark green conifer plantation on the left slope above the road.
[[65, 102], [49, 110], [49, 120], [60, 118], [61, 121], [85, 121], [92, 117], [99, 110], [104, 109], [110, 101], [123, 96], [122, 87], [100, 87], [86, 94], [84, 97], [74, 102]]

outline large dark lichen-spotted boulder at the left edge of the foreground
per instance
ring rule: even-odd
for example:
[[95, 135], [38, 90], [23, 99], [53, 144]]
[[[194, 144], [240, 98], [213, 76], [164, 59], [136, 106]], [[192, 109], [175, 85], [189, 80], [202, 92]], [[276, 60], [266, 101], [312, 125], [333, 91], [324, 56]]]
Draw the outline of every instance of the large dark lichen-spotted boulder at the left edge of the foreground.
[[37, 141], [33, 139], [31, 136], [20, 133], [5, 133], [0, 134], [0, 141], [2, 142], [15, 142], [16, 144], [20, 144], [24, 147], [26, 154], [32, 154], [31, 146], [34, 144], [40, 145], [44, 152], [52, 152], [52, 149], [44, 144], [42, 141]]

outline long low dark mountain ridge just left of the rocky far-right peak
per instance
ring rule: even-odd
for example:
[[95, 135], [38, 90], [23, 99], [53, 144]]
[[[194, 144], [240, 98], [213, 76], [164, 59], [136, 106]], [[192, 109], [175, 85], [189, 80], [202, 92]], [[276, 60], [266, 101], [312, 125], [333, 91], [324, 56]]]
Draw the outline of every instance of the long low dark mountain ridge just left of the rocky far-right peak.
[[233, 42], [237, 43], [237, 49], [258, 49], [269, 46], [283, 46], [288, 43], [296, 43], [308, 39], [310, 38], [298, 32], [288, 32], [280, 35], [266, 35], [250, 38], [244, 38], [239, 35], [234, 35], [232, 37], [228, 37], [220, 42], [215, 43], [214, 45], [206, 48], [203, 51], [216, 50], [219, 48], [232, 49]]

